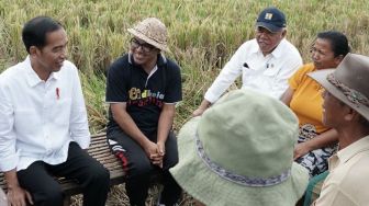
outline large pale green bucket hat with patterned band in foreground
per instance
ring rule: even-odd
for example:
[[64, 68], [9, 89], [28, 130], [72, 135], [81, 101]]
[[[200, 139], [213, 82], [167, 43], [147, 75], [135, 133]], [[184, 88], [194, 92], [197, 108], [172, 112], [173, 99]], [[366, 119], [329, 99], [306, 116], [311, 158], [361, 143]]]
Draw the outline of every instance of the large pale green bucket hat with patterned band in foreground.
[[230, 92], [179, 131], [171, 174], [203, 204], [292, 206], [308, 171], [293, 162], [298, 119], [280, 101]]

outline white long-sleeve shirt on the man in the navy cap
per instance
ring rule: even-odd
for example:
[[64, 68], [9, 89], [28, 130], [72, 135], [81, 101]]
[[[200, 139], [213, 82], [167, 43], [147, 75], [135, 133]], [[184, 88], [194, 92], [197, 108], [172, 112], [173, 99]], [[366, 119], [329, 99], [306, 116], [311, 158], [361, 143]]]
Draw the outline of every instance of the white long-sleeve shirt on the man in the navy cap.
[[288, 79], [302, 66], [299, 50], [286, 38], [276, 49], [264, 56], [256, 39], [245, 42], [224, 66], [205, 93], [205, 100], [214, 103], [242, 75], [242, 88], [279, 99], [288, 89]]

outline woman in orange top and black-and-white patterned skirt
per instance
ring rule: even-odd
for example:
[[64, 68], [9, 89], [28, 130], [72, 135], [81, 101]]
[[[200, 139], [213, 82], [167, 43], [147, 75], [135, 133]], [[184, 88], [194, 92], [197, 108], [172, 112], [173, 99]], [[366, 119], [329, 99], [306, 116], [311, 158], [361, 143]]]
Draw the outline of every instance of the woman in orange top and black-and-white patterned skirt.
[[311, 48], [313, 62], [302, 66], [290, 78], [290, 87], [281, 96], [300, 122], [294, 160], [309, 170], [311, 178], [327, 170], [327, 159], [335, 151], [338, 138], [336, 130], [326, 128], [322, 123], [322, 89], [306, 73], [336, 68], [347, 53], [349, 46], [344, 34], [335, 31], [318, 33]]

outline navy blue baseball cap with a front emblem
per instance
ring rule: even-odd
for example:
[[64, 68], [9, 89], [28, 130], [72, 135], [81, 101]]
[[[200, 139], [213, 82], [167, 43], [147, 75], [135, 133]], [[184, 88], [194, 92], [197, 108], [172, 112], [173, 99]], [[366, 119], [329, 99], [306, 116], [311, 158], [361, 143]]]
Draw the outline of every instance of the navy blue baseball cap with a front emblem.
[[284, 13], [275, 7], [262, 10], [256, 20], [256, 26], [265, 27], [272, 33], [281, 31], [286, 24]]

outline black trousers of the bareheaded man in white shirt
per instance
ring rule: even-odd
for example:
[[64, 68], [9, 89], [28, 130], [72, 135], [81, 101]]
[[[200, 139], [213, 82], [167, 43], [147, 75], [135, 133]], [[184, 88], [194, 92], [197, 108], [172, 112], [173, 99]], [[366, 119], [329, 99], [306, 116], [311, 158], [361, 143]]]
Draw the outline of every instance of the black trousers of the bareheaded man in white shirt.
[[83, 206], [104, 206], [110, 186], [109, 171], [76, 142], [70, 142], [66, 162], [51, 165], [36, 161], [16, 174], [36, 206], [63, 205], [62, 187], [54, 175], [76, 180], [82, 186]]

